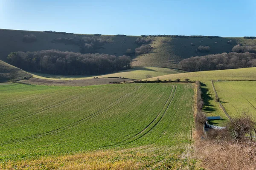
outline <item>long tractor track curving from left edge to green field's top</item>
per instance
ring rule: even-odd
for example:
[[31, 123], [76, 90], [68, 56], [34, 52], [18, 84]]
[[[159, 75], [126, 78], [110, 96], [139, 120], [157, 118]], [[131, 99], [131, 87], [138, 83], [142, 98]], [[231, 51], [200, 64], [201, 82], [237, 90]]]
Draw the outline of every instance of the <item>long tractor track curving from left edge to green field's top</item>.
[[[124, 98], [125, 96], [130, 96], [131, 94], [133, 94], [135, 91], [137, 91], [138, 89], [140, 89], [142, 87], [142, 85], [140, 86], [137, 86], [135, 87], [134, 89], [132, 89], [128, 94], [125, 94], [124, 96], [121, 96], [119, 97], [118, 99], [116, 99], [114, 102], [112, 102], [111, 104], [109, 104], [105, 109], [101, 109], [93, 114], [90, 114], [89, 116], [86, 116], [85, 118], [83, 119], [80, 119], [76, 122], [73, 122], [71, 123], [70, 125], [66, 125], [66, 126], [63, 126], [63, 127], [59, 127], [57, 129], [54, 129], [54, 130], [50, 130], [48, 132], [45, 132], [45, 133], [37, 133], [35, 135], [32, 135], [32, 136], [29, 136], [29, 137], [24, 137], [24, 138], [20, 138], [20, 139], [12, 139], [12, 140], [9, 140], [9, 141], [5, 141], [5, 142], [1, 142], [0, 144], [9, 144], [9, 143], [13, 143], [13, 142], [22, 142], [22, 141], [26, 141], [26, 140], [29, 140], [29, 139], [36, 139], [36, 138], [39, 138], [39, 137], [42, 137], [42, 136], [46, 136], [46, 135], [49, 135], [49, 134], [52, 134], [52, 133], [58, 133], [58, 132], [62, 132], [63, 130], [67, 129], [67, 128], [70, 128], [70, 127], [74, 127], [76, 125], [79, 125], [89, 119], [92, 119], [93, 117], [109, 110], [110, 108], [112, 108], [114, 105], [116, 105], [116, 103], [118, 103], [118, 101], [122, 98]], [[98, 113], [98, 114], [97, 114]]]

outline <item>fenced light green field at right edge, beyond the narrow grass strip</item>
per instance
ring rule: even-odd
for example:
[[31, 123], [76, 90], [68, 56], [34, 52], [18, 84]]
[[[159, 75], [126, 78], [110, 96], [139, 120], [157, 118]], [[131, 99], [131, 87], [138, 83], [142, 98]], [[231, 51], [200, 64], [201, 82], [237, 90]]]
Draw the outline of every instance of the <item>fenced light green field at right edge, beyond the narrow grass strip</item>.
[[241, 115], [243, 111], [256, 116], [256, 81], [215, 82], [214, 85], [231, 117]]

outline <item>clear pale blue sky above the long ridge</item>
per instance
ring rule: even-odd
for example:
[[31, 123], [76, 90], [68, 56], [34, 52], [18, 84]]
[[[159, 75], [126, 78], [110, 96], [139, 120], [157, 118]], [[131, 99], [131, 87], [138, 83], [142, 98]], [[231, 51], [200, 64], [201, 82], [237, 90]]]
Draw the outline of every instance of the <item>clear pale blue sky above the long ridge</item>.
[[256, 0], [0, 0], [0, 28], [256, 36]]

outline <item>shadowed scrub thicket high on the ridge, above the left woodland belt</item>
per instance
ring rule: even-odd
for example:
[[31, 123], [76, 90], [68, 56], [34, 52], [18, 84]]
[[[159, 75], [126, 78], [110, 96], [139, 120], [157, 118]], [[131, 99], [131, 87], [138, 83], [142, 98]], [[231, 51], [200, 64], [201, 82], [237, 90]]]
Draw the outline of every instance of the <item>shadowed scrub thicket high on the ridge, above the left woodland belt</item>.
[[103, 40], [99, 37], [76, 37], [67, 38], [67, 37], [59, 37], [54, 40], [54, 42], [65, 43], [65, 44], [73, 44], [80, 46], [81, 53], [93, 53], [97, 49], [101, 48], [105, 43], [110, 43], [111, 40]]

